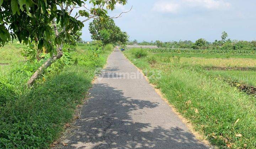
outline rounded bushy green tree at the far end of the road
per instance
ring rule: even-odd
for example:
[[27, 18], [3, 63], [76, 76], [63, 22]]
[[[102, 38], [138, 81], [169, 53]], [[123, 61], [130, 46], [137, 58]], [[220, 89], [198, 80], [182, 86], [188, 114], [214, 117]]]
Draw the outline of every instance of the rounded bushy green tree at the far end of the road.
[[127, 33], [122, 32], [113, 19], [94, 20], [89, 24], [89, 31], [93, 40], [102, 40], [103, 44], [128, 41]]

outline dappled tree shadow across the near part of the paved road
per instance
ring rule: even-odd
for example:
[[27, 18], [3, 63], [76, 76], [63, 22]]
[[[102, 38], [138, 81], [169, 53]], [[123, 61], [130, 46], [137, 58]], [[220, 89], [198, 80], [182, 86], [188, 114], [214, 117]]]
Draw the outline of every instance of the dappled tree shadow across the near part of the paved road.
[[157, 102], [125, 97], [108, 84], [95, 84], [90, 93], [92, 98], [76, 122], [79, 130], [67, 148], [207, 148], [183, 129], [132, 120], [131, 112], [153, 109]]

